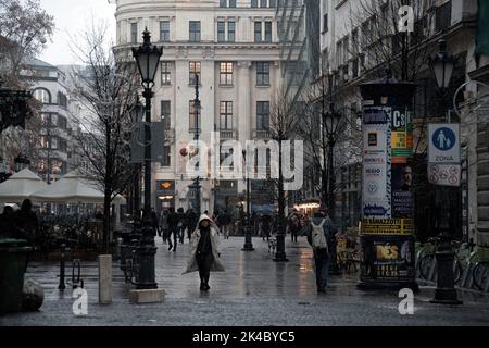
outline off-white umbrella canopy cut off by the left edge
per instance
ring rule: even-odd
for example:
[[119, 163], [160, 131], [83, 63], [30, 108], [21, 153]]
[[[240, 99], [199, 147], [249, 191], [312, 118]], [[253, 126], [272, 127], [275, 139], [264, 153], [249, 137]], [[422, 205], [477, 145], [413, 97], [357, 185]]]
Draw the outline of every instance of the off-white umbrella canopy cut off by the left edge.
[[0, 184], [0, 202], [22, 202], [24, 199], [30, 198], [32, 194], [42, 190], [47, 186], [29, 169], [24, 169]]

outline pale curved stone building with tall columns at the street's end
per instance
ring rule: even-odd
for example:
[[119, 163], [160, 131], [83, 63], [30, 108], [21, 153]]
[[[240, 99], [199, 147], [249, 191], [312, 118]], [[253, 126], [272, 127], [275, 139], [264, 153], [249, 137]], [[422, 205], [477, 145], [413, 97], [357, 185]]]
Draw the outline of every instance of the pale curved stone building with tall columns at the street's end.
[[[214, 133], [243, 146], [268, 137], [269, 108], [281, 82], [276, 5], [275, 0], [116, 1], [116, 54], [131, 59], [145, 28], [163, 47], [151, 110], [166, 129], [167, 156], [153, 164], [151, 203], [158, 210], [187, 209], [195, 201], [181, 163], [196, 130], [196, 74], [201, 140], [210, 144]], [[243, 179], [202, 178], [202, 210], [242, 203]]]

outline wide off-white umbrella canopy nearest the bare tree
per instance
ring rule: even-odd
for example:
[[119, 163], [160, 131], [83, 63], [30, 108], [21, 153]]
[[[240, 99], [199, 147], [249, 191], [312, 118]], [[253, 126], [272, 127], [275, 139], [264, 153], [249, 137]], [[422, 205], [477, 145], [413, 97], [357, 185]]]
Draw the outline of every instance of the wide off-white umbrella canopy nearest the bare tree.
[[[36, 202], [103, 203], [103, 192], [76, 172], [64, 175], [60, 181], [34, 192], [30, 198]], [[124, 198], [120, 197], [118, 200], [123, 201]]]

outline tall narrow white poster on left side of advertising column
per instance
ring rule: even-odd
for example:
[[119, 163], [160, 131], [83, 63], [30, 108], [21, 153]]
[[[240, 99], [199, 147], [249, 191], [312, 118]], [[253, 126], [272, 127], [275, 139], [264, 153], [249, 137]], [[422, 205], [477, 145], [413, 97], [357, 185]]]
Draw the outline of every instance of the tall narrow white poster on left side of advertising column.
[[387, 182], [388, 125], [363, 126], [363, 216], [390, 216], [390, 197]]

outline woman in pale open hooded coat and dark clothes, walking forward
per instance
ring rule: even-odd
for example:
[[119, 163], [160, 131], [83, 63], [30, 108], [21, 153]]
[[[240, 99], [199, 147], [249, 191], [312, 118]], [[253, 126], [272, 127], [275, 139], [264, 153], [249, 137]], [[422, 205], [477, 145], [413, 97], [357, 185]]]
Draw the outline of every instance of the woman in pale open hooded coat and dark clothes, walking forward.
[[200, 215], [190, 240], [190, 259], [184, 274], [199, 271], [201, 291], [208, 291], [211, 288], [209, 286], [211, 272], [224, 271], [220, 260], [218, 243], [216, 224], [206, 214]]

